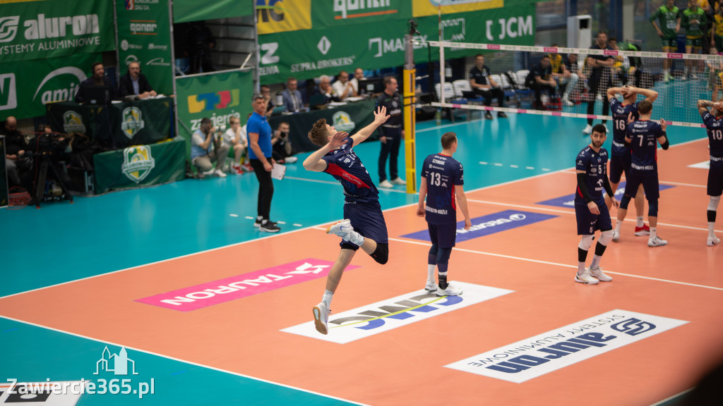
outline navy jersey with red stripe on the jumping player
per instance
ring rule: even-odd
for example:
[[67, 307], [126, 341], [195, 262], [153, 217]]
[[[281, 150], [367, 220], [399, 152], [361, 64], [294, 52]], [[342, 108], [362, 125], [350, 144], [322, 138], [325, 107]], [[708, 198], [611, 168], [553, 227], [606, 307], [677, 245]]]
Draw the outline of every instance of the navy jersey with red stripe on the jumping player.
[[327, 152], [322, 160], [327, 163], [324, 172], [329, 173], [344, 186], [346, 202], [375, 202], [379, 200], [379, 191], [367, 168], [361, 163], [354, 150], [354, 139], [348, 137], [337, 150]]

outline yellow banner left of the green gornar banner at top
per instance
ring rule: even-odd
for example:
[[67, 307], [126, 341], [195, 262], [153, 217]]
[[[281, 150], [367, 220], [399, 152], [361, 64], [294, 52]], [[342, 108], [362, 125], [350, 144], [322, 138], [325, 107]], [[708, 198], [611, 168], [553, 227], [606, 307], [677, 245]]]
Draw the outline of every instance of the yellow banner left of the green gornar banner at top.
[[311, 0], [257, 0], [256, 12], [259, 35], [312, 27]]

